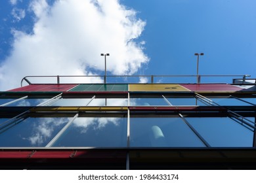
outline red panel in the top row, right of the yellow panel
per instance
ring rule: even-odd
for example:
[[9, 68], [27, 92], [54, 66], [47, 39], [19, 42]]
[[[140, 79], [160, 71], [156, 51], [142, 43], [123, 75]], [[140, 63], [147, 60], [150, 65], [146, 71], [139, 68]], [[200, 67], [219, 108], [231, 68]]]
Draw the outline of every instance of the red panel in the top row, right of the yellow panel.
[[181, 86], [193, 92], [234, 92], [242, 90], [242, 88], [230, 84], [181, 84]]

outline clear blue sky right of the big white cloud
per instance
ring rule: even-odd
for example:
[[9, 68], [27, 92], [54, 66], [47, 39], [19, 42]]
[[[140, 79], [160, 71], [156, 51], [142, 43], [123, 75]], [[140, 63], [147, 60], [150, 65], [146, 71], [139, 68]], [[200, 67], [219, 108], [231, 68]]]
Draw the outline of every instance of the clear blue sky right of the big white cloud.
[[[147, 73], [200, 73], [255, 77], [255, 1], [121, 1], [146, 20], [141, 39], [150, 57]], [[166, 65], [166, 67], [164, 66]], [[156, 69], [159, 68], [159, 69]]]

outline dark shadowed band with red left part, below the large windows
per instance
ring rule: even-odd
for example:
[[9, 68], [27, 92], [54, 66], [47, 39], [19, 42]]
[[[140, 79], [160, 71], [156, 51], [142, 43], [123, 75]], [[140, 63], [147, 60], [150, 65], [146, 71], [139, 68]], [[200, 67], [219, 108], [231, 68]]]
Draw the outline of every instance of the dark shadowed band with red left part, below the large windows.
[[255, 169], [255, 148], [1, 149], [0, 169]]

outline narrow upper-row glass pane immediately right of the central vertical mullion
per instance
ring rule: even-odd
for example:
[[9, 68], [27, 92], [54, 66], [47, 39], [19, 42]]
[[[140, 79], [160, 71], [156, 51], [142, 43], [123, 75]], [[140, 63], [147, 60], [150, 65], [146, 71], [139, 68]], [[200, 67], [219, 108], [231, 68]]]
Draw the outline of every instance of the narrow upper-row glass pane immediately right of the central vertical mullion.
[[169, 104], [161, 98], [131, 98], [131, 106], [168, 106]]

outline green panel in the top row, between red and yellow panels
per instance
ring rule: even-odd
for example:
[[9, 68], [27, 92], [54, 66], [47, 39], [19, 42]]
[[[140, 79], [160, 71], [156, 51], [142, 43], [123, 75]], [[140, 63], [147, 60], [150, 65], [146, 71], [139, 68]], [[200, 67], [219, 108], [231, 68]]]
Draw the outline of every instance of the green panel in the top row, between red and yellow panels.
[[79, 84], [77, 87], [70, 90], [70, 92], [111, 92], [128, 91], [127, 84]]

